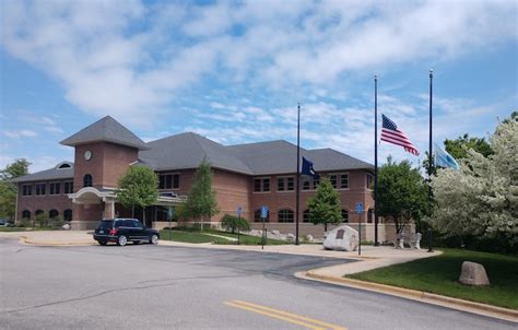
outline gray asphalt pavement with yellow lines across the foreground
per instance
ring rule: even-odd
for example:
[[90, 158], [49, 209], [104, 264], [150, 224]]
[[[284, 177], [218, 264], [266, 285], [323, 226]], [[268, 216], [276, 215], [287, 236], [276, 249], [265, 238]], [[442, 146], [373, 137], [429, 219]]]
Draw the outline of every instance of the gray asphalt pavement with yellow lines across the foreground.
[[0, 238], [0, 328], [516, 329], [293, 276], [345, 261], [161, 245], [42, 247]]

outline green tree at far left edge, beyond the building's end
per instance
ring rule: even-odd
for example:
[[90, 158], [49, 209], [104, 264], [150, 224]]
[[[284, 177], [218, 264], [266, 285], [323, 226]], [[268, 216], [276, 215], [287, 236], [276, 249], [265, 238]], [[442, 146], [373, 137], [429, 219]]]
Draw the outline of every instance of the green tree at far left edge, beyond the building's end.
[[31, 163], [25, 158], [15, 160], [14, 163], [0, 170], [0, 217], [13, 220], [16, 212], [17, 185], [10, 180], [28, 174]]

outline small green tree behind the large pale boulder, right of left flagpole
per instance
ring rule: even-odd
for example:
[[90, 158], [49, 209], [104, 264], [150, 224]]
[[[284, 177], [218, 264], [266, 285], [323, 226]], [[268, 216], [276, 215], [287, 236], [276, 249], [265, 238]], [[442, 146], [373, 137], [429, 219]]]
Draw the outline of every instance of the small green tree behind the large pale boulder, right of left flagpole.
[[308, 199], [307, 209], [309, 210], [309, 221], [314, 225], [323, 225], [326, 232], [328, 231], [328, 224], [339, 224], [342, 221], [340, 195], [332, 187], [329, 178], [322, 178], [315, 197]]

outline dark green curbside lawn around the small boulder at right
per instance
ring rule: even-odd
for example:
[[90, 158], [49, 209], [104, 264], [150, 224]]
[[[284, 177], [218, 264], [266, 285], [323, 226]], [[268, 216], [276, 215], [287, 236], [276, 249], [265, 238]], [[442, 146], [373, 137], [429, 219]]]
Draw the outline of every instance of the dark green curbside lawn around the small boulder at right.
[[[413, 288], [445, 296], [518, 309], [518, 258], [459, 249], [437, 257], [389, 266], [348, 278]], [[458, 283], [463, 261], [484, 266], [491, 285]]]

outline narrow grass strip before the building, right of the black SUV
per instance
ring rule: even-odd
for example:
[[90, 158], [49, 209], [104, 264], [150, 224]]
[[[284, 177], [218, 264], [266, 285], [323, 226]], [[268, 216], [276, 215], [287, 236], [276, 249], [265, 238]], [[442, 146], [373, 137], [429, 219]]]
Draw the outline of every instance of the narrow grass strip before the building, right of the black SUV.
[[[237, 244], [237, 240], [228, 240], [225, 238], [207, 235], [207, 234], [214, 234], [219, 236], [225, 236], [225, 237], [237, 239], [237, 234], [231, 234], [227, 232], [220, 232], [220, 231], [214, 231], [214, 229], [204, 229], [203, 232], [173, 229], [170, 232], [172, 232], [170, 240], [173, 241], [183, 241], [183, 243], [211, 243], [213, 241], [214, 244], [221, 244], [221, 245], [236, 245]], [[161, 231], [160, 237], [161, 239], [169, 240], [169, 231], [168, 229]], [[242, 245], [260, 245], [261, 238], [242, 234], [239, 238], [239, 243]], [[276, 239], [268, 239], [267, 241], [267, 245], [280, 245], [280, 244], [286, 244], [286, 243], [282, 240], [276, 240]]]

